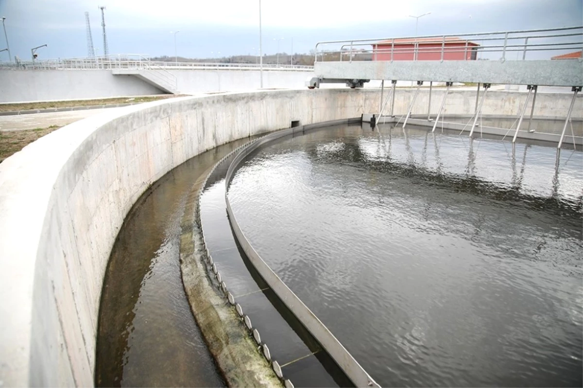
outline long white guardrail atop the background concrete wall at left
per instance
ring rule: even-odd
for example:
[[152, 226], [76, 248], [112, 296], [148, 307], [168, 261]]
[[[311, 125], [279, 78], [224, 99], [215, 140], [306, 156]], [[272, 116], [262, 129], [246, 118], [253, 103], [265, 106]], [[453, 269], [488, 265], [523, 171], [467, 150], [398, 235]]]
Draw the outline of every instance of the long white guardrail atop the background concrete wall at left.
[[[35, 61], [0, 62], [0, 70], [86, 70], [86, 69], [199, 69], [199, 70], [257, 70], [259, 64], [208, 62], [152, 61], [141, 54], [115, 54], [103, 57], [37, 59]], [[312, 70], [314, 66], [263, 65], [264, 70]]]

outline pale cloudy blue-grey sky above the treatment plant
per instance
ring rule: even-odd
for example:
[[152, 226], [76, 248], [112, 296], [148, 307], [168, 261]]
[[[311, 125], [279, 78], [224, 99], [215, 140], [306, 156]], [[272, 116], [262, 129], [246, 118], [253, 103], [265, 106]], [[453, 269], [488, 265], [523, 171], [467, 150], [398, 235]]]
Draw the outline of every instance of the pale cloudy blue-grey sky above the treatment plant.
[[[333, 3], [334, 6], [331, 6]], [[0, 0], [10, 51], [30, 58], [87, 55], [85, 11], [92, 23], [93, 45], [103, 53], [98, 5], [107, 6], [110, 54], [178, 55], [204, 58], [249, 54], [258, 49], [258, 0]], [[583, 0], [262, 0], [263, 51], [308, 52], [322, 40], [455, 34], [538, 29], [583, 24]], [[471, 17], [470, 17], [471, 15]], [[0, 49], [5, 48], [0, 31]], [[211, 54], [213, 52], [213, 54]], [[6, 52], [0, 53], [6, 61]]]

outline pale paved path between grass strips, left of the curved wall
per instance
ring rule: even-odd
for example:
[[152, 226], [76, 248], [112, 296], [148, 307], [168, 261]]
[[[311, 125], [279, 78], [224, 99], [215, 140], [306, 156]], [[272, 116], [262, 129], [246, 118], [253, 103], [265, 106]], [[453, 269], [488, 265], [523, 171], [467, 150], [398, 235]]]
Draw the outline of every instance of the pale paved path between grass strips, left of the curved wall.
[[88, 109], [83, 111], [50, 112], [30, 115], [0, 116], [0, 132], [64, 126], [103, 112], [114, 112], [120, 108]]

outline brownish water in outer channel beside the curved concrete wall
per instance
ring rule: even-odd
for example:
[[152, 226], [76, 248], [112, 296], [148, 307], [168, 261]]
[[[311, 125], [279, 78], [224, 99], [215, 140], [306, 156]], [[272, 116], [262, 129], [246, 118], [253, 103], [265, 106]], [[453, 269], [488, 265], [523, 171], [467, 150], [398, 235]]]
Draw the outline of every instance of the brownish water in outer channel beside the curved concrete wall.
[[101, 295], [96, 386], [225, 386], [182, 287], [180, 221], [189, 192], [245, 141], [217, 147], [168, 172], [130, 211]]

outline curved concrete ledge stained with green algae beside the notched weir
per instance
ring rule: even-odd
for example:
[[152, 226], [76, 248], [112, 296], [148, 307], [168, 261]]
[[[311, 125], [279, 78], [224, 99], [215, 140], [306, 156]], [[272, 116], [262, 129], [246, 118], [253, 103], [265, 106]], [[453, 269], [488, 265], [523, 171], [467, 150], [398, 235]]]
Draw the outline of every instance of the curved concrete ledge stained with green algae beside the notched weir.
[[192, 314], [227, 385], [281, 387], [282, 382], [259, 351], [234, 307], [223, 297], [218, 282], [207, 275], [202, 232], [195, 222], [203, 182], [203, 178], [196, 181], [189, 193], [181, 223], [180, 268]]

